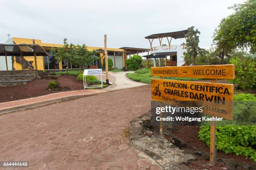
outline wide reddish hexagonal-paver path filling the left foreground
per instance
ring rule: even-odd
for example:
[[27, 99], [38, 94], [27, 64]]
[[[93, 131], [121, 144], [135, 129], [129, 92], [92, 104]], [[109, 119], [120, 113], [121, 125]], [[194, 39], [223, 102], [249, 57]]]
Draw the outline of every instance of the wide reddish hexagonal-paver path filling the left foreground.
[[158, 170], [123, 136], [150, 99], [141, 86], [2, 115], [0, 161], [29, 161], [25, 170]]

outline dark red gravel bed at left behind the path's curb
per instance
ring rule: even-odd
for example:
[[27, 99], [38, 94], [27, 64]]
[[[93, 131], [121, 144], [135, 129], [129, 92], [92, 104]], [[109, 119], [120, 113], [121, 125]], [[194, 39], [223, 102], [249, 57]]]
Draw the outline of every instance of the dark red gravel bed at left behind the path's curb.
[[[55, 77], [58, 78], [56, 80], [60, 82], [61, 87], [70, 88], [61, 91], [83, 89], [83, 82], [77, 80], [76, 76]], [[59, 90], [48, 91], [46, 89], [50, 81], [55, 81], [55, 79], [35, 79], [20, 86], [0, 87], [0, 103], [60, 92]]]

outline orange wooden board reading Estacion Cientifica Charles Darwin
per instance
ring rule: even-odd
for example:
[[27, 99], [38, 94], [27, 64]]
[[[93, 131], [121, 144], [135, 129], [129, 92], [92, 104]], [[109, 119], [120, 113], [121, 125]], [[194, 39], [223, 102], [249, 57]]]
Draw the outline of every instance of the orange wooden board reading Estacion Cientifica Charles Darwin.
[[[233, 120], [233, 84], [151, 79], [151, 98], [164, 103], [195, 101], [203, 113]], [[177, 105], [180, 105], [177, 103]]]

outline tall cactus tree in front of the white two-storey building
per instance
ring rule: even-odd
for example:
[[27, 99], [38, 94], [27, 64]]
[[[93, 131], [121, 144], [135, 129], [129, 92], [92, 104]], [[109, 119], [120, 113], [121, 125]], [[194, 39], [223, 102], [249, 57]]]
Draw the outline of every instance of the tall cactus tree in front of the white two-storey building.
[[[199, 43], [199, 36], [200, 31], [198, 29], [194, 30], [194, 26], [187, 28], [188, 33], [185, 35], [187, 37], [187, 44], [183, 43], [183, 45], [187, 46], [187, 53], [185, 53], [184, 58], [193, 58], [193, 65], [196, 65], [196, 57], [198, 54], [202, 53], [204, 49], [200, 48]], [[188, 63], [187, 63], [188, 64]]]

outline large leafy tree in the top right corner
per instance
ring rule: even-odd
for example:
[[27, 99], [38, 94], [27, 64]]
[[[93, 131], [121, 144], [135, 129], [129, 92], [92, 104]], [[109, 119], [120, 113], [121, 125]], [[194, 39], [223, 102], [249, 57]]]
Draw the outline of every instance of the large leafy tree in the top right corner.
[[[256, 1], [247, 0], [243, 4], [236, 4], [228, 9], [235, 13], [221, 20], [214, 33], [217, 51], [228, 54], [230, 49], [251, 48], [251, 53], [256, 52]], [[222, 51], [222, 52], [221, 52]]]

